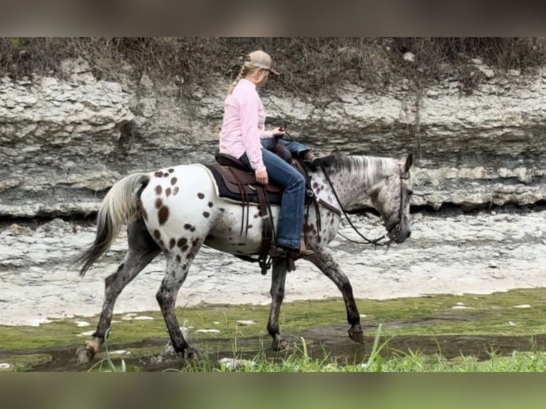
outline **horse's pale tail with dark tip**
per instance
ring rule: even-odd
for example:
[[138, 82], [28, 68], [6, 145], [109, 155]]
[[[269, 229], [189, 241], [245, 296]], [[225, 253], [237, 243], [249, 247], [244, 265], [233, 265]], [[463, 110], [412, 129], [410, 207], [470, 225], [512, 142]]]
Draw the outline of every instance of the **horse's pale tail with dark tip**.
[[123, 224], [137, 212], [140, 193], [149, 181], [148, 173], [134, 173], [110, 188], [98, 210], [95, 241], [76, 259], [76, 264], [83, 264], [80, 276], [110, 248]]

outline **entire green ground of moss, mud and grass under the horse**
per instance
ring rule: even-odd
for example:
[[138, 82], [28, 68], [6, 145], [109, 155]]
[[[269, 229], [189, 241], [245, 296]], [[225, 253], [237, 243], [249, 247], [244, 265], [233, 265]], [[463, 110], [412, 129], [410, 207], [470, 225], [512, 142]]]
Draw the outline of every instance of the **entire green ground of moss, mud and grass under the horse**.
[[[190, 344], [198, 346], [211, 361], [203, 366], [179, 368], [173, 360], [172, 369], [230, 370], [218, 364], [221, 358], [252, 361], [247, 368], [252, 371], [532, 371], [545, 363], [540, 350], [546, 342], [541, 335], [546, 333], [546, 289], [361, 299], [357, 304], [366, 314], [362, 318], [365, 348], [346, 336], [341, 299], [298, 301], [284, 304], [280, 316], [282, 333], [294, 347], [289, 353], [277, 354], [270, 351], [265, 329], [269, 306], [179, 308], [177, 316], [181, 325], [189, 327]], [[529, 308], [517, 308], [525, 304]], [[108, 347], [130, 351], [130, 355], [123, 356], [128, 371], [147, 370], [153, 361], [150, 357], [161, 356], [168, 342], [163, 318], [158, 311], [142, 313], [152, 320], [125, 321], [124, 315], [115, 314], [114, 321], [118, 322], [113, 323]], [[249, 319], [256, 324], [237, 323]], [[85, 328], [76, 327], [74, 321], [56, 320], [39, 327], [0, 327], [0, 363], [19, 361], [14, 368], [24, 371], [51, 362], [52, 356], [57, 361], [59, 356], [72, 357], [73, 353], [66, 351], [86, 341], [88, 336], [78, 334], [93, 330], [98, 317], [86, 318], [91, 325]], [[200, 328], [220, 332], [199, 333]], [[120, 365], [120, 358], [113, 354], [103, 353], [96, 359], [102, 358], [110, 361], [102, 361], [94, 370], [113, 371], [114, 362], [115, 366]], [[361, 363], [367, 365], [361, 367]], [[153, 365], [155, 371], [170, 368], [168, 363]], [[62, 366], [58, 368], [63, 370]]]

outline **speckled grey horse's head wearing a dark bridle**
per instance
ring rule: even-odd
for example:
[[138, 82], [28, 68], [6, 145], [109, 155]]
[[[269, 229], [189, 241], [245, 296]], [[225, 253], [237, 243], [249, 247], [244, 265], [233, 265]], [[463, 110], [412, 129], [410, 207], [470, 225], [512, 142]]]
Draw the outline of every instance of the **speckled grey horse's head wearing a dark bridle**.
[[403, 243], [411, 236], [412, 163], [413, 154], [403, 157], [398, 162], [396, 172], [383, 177], [370, 195], [371, 202], [381, 214], [389, 239], [396, 243]]

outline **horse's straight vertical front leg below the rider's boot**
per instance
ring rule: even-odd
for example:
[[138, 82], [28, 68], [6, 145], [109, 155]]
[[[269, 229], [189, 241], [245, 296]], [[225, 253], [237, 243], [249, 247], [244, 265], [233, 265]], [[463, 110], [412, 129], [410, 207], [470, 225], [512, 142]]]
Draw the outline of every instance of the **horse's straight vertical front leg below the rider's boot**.
[[281, 338], [279, 331], [279, 313], [284, 299], [284, 281], [287, 278], [286, 260], [274, 259], [272, 271], [271, 309], [269, 311], [269, 321], [267, 322], [267, 332], [273, 338], [272, 348], [282, 351], [288, 348], [288, 341]]

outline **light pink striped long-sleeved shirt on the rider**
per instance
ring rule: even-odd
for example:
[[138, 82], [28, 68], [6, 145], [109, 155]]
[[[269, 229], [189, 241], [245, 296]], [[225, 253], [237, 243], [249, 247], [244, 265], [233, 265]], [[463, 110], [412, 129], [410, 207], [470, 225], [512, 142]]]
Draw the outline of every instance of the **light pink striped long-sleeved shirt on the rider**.
[[247, 152], [254, 172], [265, 170], [262, 160], [262, 138], [272, 138], [265, 130], [265, 112], [256, 86], [242, 78], [225, 99], [224, 119], [220, 131], [220, 152], [241, 157]]

